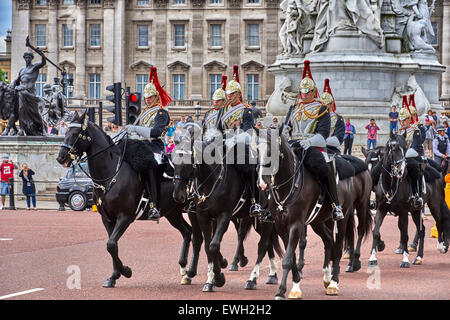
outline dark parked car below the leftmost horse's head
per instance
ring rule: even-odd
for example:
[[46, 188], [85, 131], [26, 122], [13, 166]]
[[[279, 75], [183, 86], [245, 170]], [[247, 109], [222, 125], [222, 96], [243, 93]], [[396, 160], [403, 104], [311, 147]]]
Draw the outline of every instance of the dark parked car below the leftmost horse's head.
[[[89, 173], [87, 163], [80, 164]], [[61, 207], [68, 205], [72, 210], [82, 211], [94, 204], [92, 180], [78, 167], [67, 169], [56, 187], [56, 201]]]

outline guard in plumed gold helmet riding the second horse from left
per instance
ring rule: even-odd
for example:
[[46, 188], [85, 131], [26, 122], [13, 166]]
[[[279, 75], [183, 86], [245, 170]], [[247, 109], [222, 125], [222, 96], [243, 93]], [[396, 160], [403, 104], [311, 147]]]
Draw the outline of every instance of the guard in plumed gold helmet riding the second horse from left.
[[[250, 139], [250, 135], [247, 131], [252, 129], [254, 123], [252, 108], [243, 103], [241, 85], [239, 83], [239, 68], [237, 65], [233, 66], [233, 79], [228, 81], [225, 88], [225, 94], [227, 105], [223, 108], [222, 116], [220, 118], [220, 130], [224, 133], [234, 133], [233, 138], [226, 140], [228, 149], [231, 149], [236, 142], [245, 141], [247, 144]], [[250, 189], [252, 202], [250, 215], [259, 216], [262, 210], [261, 205], [258, 202], [259, 192], [256, 185], [256, 167], [252, 164], [244, 164], [236, 166], [236, 168], [241, 171], [244, 176], [244, 181]]]

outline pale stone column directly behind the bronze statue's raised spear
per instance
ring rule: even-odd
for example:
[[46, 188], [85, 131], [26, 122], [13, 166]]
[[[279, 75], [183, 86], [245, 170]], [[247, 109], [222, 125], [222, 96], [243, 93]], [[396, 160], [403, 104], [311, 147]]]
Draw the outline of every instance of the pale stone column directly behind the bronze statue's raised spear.
[[[53, 61], [55, 64], [58, 64], [58, 47], [59, 47], [59, 39], [58, 39], [58, 22], [56, 20], [58, 13], [58, 1], [49, 1], [49, 9], [48, 9], [48, 30], [47, 30], [47, 49], [48, 54], [47, 57]], [[53, 78], [59, 77], [61, 78], [61, 74], [59, 74], [58, 69], [56, 69], [51, 64], [47, 66], [47, 82], [53, 84]]]

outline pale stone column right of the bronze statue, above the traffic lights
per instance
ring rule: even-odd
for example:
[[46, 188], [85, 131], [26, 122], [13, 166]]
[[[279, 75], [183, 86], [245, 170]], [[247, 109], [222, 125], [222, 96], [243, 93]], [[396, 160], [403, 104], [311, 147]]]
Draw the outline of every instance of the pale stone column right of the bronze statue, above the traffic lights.
[[75, 36], [75, 80], [74, 96], [77, 98], [86, 98], [86, 3], [78, 1], [76, 11], [76, 36]]

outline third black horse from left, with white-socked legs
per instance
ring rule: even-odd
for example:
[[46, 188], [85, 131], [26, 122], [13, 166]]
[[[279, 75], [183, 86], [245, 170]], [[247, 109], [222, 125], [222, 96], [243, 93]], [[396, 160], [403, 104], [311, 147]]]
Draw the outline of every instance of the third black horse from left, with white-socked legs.
[[[260, 130], [257, 131], [260, 132]], [[261, 168], [268, 165], [268, 158], [277, 158], [279, 161], [277, 171], [270, 174], [267, 172], [265, 174], [260, 173], [260, 176], [270, 187], [269, 207], [272, 212], [278, 212], [275, 214], [275, 226], [286, 248], [282, 262], [283, 278], [275, 299], [285, 298], [286, 281], [290, 270], [292, 271], [294, 285], [289, 293], [289, 298], [300, 299], [302, 297], [301, 278], [295, 261], [295, 249], [304, 227], [308, 224], [312, 226], [325, 244], [324, 283], [326, 284], [327, 294], [336, 295], [339, 293], [339, 263], [345, 236], [345, 221], [341, 220], [334, 225], [331, 221], [331, 203], [325, 201], [322, 206], [317, 203], [316, 200], [321, 194], [319, 182], [303, 166], [303, 159], [297, 158], [281, 132], [282, 128], [278, 132], [269, 130], [267, 131], [267, 139], [260, 136], [260, 144], [265, 145], [263, 149], [266, 150], [265, 153], [262, 153], [260, 159]], [[278, 142], [274, 144], [273, 135], [276, 133], [278, 133], [278, 138], [275, 140]], [[305, 153], [304, 150], [303, 153]], [[340, 198], [343, 196], [342, 190], [351, 190], [351, 187], [349, 179], [340, 181]], [[346, 215], [348, 215], [353, 203], [353, 198], [342, 197], [342, 207]], [[330, 224], [330, 227], [323, 228], [323, 223]], [[335, 232], [336, 230], [337, 232]], [[329, 264], [330, 261], [332, 261], [332, 267]]]

